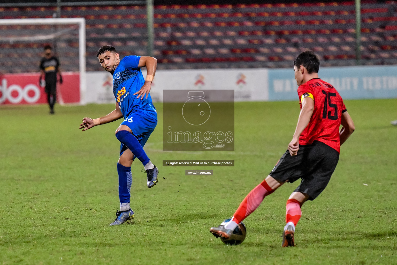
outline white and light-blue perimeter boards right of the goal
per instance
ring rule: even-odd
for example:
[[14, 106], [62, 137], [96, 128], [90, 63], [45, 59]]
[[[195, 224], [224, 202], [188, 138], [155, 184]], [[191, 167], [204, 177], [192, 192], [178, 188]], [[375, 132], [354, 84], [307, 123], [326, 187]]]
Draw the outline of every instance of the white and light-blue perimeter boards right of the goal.
[[[142, 69], [144, 77], [146, 69]], [[397, 66], [320, 68], [344, 99], [397, 98]], [[158, 70], [150, 94], [162, 101], [163, 89], [234, 89], [235, 101], [298, 100], [293, 69]], [[112, 75], [87, 72], [87, 103], [114, 103]]]

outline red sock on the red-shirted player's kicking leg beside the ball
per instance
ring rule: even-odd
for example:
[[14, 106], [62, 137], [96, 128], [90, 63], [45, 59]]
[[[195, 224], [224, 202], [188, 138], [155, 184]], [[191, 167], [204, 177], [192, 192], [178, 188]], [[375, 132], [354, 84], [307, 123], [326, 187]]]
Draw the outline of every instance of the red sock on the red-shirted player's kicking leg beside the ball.
[[233, 215], [232, 221], [237, 224], [242, 222], [247, 216], [255, 211], [256, 208], [259, 207], [260, 203], [262, 203], [263, 199], [273, 191], [274, 190], [272, 190], [266, 183], [266, 180], [262, 181], [258, 186], [251, 190], [247, 197], [245, 197], [245, 199], [240, 203], [239, 208], [237, 208], [237, 211]]

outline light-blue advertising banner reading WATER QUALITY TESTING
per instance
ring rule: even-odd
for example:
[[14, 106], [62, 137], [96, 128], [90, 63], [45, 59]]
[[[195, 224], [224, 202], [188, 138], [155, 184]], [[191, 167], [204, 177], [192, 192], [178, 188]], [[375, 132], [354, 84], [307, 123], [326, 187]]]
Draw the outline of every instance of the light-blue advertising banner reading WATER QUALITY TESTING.
[[[321, 68], [318, 76], [343, 99], [397, 98], [397, 66]], [[269, 69], [269, 101], [299, 100], [293, 68]]]

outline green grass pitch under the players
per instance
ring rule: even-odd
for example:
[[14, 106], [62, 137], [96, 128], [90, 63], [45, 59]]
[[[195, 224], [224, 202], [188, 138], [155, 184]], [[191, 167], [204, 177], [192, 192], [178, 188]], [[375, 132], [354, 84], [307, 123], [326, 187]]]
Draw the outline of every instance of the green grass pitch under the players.
[[[0, 264], [396, 264], [397, 102], [345, 101], [356, 132], [326, 190], [305, 203], [296, 248], [283, 249], [285, 202], [267, 197], [225, 246], [209, 232], [267, 176], [295, 129], [297, 102], [236, 103], [235, 151], [162, 151], [159, 123], [146, 144], [160, 181], [146, 187], [134, 162], [135, 221], [109, 227], [118, 209], [120, 122], [80, 132], [113, 105], [0, 107]], [[228, 159], [234, 167], [162, 167], [163, 159]], [[214, 176], [185, 176], [186, 169]], [[364, 185], [367, 184], [368, 186]]]

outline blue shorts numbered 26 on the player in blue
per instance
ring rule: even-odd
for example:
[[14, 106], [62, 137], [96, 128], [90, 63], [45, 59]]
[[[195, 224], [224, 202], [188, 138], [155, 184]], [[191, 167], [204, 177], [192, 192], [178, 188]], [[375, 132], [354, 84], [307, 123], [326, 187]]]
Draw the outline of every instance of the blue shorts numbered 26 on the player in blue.
[[[132, 112], [120, 125], [127, 125], [143, 147], [157, 125], [157, 113]], [[120, 156], [127, 149], [128, 147], [121, 143]], [[133, 159], [135, 159], [135, 155]]]

